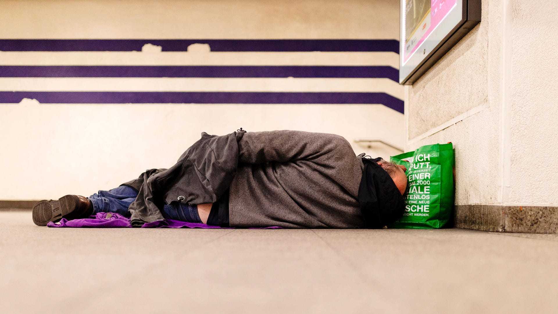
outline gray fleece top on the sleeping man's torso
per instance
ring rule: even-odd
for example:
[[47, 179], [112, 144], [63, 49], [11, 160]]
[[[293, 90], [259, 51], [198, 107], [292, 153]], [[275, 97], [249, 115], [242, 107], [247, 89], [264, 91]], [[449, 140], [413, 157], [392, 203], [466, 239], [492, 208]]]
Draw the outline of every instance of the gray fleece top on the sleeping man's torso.
[[342, 136], [248, 132], [230, 185], [231, 227], [364, 228], [362, 156]]

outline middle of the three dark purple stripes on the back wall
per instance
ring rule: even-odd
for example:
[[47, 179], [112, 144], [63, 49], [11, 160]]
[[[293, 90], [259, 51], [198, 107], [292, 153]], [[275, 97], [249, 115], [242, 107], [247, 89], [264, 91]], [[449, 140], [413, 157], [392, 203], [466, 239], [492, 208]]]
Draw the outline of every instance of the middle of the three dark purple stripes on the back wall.
[[0, 66], [0, 77], [386, 77], [390, 66]]

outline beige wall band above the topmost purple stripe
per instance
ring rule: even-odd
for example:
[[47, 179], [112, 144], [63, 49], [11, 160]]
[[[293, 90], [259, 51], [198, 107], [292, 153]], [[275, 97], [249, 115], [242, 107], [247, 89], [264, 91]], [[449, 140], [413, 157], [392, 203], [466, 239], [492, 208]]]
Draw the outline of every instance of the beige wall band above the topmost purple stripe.
[[398, 10], [397, 0], [2, 0], [0, 38], [398, 39]]

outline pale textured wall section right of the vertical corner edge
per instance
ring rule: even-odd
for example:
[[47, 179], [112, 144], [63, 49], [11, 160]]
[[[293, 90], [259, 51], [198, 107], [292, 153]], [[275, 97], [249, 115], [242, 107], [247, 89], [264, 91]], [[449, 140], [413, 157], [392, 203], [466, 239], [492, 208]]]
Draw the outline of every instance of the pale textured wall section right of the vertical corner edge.
[[558, 204], [558, 33], [556, 1], [513, 0], [510, 203]]

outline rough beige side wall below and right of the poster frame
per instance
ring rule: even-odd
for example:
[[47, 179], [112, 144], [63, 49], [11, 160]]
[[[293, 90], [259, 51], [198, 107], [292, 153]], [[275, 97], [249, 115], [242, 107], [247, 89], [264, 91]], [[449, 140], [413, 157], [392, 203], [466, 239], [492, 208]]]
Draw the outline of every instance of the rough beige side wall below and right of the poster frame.
[[[456, 204], [558, 203], [552, 1], [483, 1], [482, 22], [406, 87], [407, 149], [454, 143]], [[550, 161], [550, 160], [549, 160]]]

